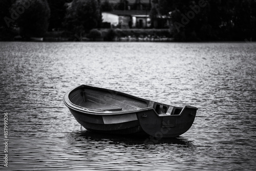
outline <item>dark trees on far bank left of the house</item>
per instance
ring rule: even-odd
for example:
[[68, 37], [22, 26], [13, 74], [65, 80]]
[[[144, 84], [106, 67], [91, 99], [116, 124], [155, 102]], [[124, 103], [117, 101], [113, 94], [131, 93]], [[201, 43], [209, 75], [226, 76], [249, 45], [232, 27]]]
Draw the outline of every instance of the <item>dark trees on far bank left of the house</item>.
[[102, 22], [99, 0], [0, 0], [0, 17], [2, 39], [15, 28], [23, 37], [43, 37], [59, 29], [88, 32]]

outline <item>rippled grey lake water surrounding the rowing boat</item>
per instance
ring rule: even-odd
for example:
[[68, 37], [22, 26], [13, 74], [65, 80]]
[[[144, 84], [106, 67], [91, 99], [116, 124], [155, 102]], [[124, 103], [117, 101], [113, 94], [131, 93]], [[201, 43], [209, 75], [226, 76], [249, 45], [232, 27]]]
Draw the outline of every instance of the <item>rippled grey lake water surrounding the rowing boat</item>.
[[[1, 170], [256, 168], [254, 43], [0, 42], [0, 50]], [[62, 102], [78, 84], [199, 110], [188, 132], [155, 144], [93, 134]]]

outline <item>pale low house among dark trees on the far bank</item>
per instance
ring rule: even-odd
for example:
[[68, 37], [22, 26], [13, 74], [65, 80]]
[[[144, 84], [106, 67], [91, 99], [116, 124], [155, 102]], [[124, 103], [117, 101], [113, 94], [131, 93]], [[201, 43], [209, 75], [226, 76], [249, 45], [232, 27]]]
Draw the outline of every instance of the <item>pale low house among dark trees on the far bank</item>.
[[[115, 10], [102, 12], [103, 23], [120, 28], [148, 28], [151, 26], [150, 11], [147, 10]], [[118, 18], [118, 23], [117, 23]]]

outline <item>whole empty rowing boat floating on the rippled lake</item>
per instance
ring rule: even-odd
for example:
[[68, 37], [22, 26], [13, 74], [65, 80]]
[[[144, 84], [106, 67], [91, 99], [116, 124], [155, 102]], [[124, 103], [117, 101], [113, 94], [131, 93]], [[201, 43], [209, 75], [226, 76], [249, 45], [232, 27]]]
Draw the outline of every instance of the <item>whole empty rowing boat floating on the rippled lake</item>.
[[161, 138], [187, 132], [198, 110], [86, 85], [68, 91], [63, 102], [77, 122], [89, 131]]

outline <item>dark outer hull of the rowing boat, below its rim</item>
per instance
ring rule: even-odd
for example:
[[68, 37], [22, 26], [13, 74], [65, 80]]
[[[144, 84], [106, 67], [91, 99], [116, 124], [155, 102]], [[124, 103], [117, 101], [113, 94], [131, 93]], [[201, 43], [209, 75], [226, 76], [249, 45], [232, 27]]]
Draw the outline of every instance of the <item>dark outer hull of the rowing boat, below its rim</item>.
[[122, 115], [91, 115], [70, 109], [85, 129], [107, 134], [137, 134], [153, 137], [177, 137], [187, 132], [195, 120], [197, 109], [186, 106], [178, 115], [158, 116], [155, 110]]

